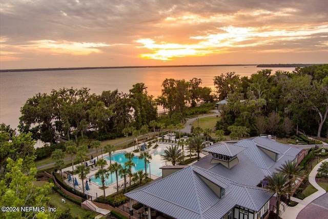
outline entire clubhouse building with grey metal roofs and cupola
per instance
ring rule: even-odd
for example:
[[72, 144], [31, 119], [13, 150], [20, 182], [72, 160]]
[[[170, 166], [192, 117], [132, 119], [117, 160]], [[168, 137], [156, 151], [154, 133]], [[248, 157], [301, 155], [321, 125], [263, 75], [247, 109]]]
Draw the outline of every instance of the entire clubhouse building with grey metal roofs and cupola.
[[148, 218], [267, 218], [274, 194], [264, 178], [285, 161], [299, 163], [301, 149], [259, 136], [203, 151], [193, 165], [162, 167], [162, 179], [125, 195], [147, 206]]

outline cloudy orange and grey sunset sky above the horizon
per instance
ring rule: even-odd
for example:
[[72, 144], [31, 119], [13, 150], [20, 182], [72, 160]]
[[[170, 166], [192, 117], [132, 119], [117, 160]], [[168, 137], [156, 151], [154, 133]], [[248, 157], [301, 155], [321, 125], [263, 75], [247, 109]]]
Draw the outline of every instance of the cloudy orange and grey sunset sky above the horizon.
[[328, 63], [328, 1], [1, 0], [0, 69]]

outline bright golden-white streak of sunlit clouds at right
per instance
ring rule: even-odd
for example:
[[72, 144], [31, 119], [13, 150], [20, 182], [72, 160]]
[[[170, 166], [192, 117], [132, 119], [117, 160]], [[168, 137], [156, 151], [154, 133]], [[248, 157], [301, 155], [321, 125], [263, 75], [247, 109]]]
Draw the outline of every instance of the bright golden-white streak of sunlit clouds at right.
[[[170, 18], [171, 19], [171, 18]], [[263, 45], [273, 45], [277, 42], [295, 41], [312, 37], [317, 33], [328, 32], [328, 25], [319, 27], [307, 27], [302, 29], [284, 29], [283, 27], [274, 28], [266, 27], [222, 27], [222, 33], [206, 34], [198, 36], [190, 36], [189, 39], [195, 39], [198, 43], [180, 44], [169, 42], [156, 42], [151, 38], [141, 38], [136, 42], [143, 44], [137, 48], [147, 48], [152, 53], [142, 53], [139, 57], [146, 59], [157, 59], [162, 61], [172, 61], [176, 57], [188, 56], [207, 56], [219, 53], [233, 52], [234, 48], [240, 47], [258, 47]], [[261, 52], [269, 52], [270, 49], [260, 50]], [[273, 51], [273, 50], [271, 50]], [[289, 51], [292, 51], [291, 49]], [[282, 49], [274, 49], [273, 52], [286, 52]]]

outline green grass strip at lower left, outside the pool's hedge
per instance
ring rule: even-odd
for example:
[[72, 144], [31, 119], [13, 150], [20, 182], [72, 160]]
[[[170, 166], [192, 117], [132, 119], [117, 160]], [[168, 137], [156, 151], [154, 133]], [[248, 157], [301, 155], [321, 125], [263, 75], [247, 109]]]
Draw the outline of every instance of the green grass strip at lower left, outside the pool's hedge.
[[91, 212], [93, 214], [93, 216], [98, 215], [97, 212], [93, 212], [93, 211], [88, 211], [85, 209], [82, 209], [79, 205], [76, 205], [75, 203], [65, 199], [65, 204], [61, 202], [61, 198], [63, 198], [61, 195], [59, 195], [58, 193], [54, 192], [53, 194], [49, 194], [48, 195], [50, 197], [50, 201], [49, 204], [51, 204], [52, 206], [54, 206], [57, 211], [58, 209], [60, 211], [65, 211], [66, 209], [71, 209], [71, 213], [74, 216], [80, 216], [83, 217], [83, 215], [85, 215], [88, 212]]

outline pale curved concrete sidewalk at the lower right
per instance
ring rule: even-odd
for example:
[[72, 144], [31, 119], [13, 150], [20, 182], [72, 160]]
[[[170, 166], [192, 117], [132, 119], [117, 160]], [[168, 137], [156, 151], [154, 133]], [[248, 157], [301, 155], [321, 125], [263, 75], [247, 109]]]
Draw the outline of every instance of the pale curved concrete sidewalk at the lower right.
[[316, 200], [321, 195], [325, 194], [326, 191], [321, 188], [317, 182], [316, 182], [316, 175], [318, 173], [318, 169], [320, 168], [320, 165], [322, 162], [328, 161], [328, 158], [321, 161], [319, 164], [317, 164], [312, 171], [309, 174], [309, 182], [318, 190], [312, 195], [309, 195], [308, 197], [304, 198], [300, 203], [298, 203], [295, 207], [287, 207], [286, 210], [282, 213], [281, 218], [284, 219], [296, 219], [298, 213], [305, 208], [307, 205], [309, 205], [311, 202]]

